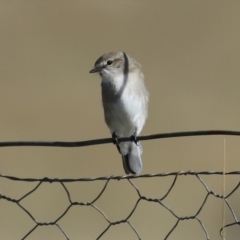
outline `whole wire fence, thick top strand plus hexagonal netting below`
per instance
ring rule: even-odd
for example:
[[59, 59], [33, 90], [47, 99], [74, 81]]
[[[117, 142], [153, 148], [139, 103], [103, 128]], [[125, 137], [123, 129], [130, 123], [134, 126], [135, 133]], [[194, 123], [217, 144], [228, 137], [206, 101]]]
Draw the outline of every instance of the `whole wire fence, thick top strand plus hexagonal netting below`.
[[[156, 135], [151, 135], [151, 136], [141, 136], [138, 137], [138, 140], [148, 140], [148, 139], [158, 139], [158, 138], [169, 138], [169, 137], [184, 137], [184, 136], [199, 136], [199, 135], [235, 135], [235, 136], [240, 136], [240, 132], [238, 131], [195, 131], [195, 132], [181, 132], [181, 133], [166, 133], [166, 134], [156, 134]], [[121, 141], [129, 141], [129, 138], [121, 138], [119, 139], [119, 142]], [[88, 145], [94, 145], [94, 144], [103, 144], [103, 143], [109, 143], [112, 142], [113, 140], [110, 139], [98, 139], [98, 140], [91, 140], [91, 141], [85, 141], [85, 142], [1, 142], [0, 147], [10, 147], [10, 146], [52, 146], [52, 147], [79, 147], [79, 146], [88, 146]], [[232, 204], [229, 201], [229, 198], [232, 197], [234, 194], [236, 194], [237, 191], [239, 191], [239, 186], [240, 186], [240, 181], [232, 187], [230, 191], [226, 194], [223, 191], [223, 194], [219, 194], [216, 191], [211, 190], [207, 183], [203, 180], [203, 176], [208, 175], [208, 176], [239, 176], [240, 171], [231, 171], [231, 172], [224, 172], [224, 171], [180, 171], [180, 172], [170, 172], [170, 173], [159, 173], [159, 174], [144, 174], [144, 175], [128, 175], [128, 176], [110, 176], [110, 177], [98, 177], [98, 178], [78, 178], [78, 179], [58, 179], [58, 178], [19, 178], [15, 176], [7, 176], [4, 174], [0, 174], [0, 179], [5, 179], [7, 181], [13, 181], [13, 182], [32, 182], [36, 183], [36, 185], [27, 193], [22, 195], [19, 198], [11, 198], [9, 196], [4, 195], [4, 193], [0, 193], [0, 200], [1, 201], [7, 201], [10, 204], [15, 204], [20, 210], [22, 210], [29, 218], [30, 220], [34, 223], [34, 227], [29, 229], [28, 232], [21, 238], [21, 239], [27, 239], [36, 229], [38, 229], [41, 226], [56, 226], [60, 233], [65, 237], [65, 239], [71, 239], [68, 236], [68, 233], [64, 230], [64, 227], [61, 226], [60, 220], [63, 219], [69, 210], [73, 206], [77, 207], [90, 207], [94, 209], [97, 214], [101, 216], [104, 221], [107, 223], [107, 227], [105, 229], [102, 229], [102, 231], [99, 233], [98, 236], [94, 239], [101, 239], [104, 237], [106, 232], [113, 227], [114, 225], [119, 225], [119, 224], [127, 224], [130, 229], [133, 231], [134, 235], [136, 236], [136, 239], [142, 239], [141, 235], [139, 233], [139, 229], [134, 226], [134, 224], [131, 221], [131, 217], [135, 214], [136, 210], [139, 207], [140, 202], [153, 202], [156, 203], [160, 208], [165, 209], [169, 215], [171, 215], [174, 218], [174, 223], [172, 226], [169, 226], [169, 231], [166, 233], [164, 236], [164, 239], [170, 239], [171, 234], [175, 229], [177, 229], [178, 225], [180, 222], [186, 221], [186, 220], [193, 220], [196, 221], [200, 228], [202, 229], [202, 232], [204, 233], [205, 238], [204, 239], [210, 239], [210, 234], [208, 228], [205, 226], [204, 221], [201, 219], [200, 214], [203, 212], [204, 208], [206, 207], [206, 203], [210, 196], [216, 198], [216, 199], [221, 199], [221, 201], [224, 203], [228, 211], [230, 212], [232, 216], [232, 222], [229, 222], [219, 226], [219, 235], [221, 236], [222, 239], [225, 239], [225, 230], [230, 229], [232, 226], [238, 226], [240, 225], [240, 222], [237, 218], [236, 211], [237, 209], [234, 209]], [[197, 179], [198, 183], [204, 188], [205, 195], [203, 197], [203, 201], [198, 207], [198, 210], [192, 214], [192, 215], [186, 215], [186, 216], [179, 216], [173, 209], [171, 209], [166, 203], [165, 200], [169, 197], [169, 194], [172, 192], [172, 190], [175, 188], [176, 183], [179, 181], [180, 178], [183, 176], [188, 176], [188, 177], [194, 177]], [[169, 188], [165, 191], [165, 193], [162, 196], [159, 196], [157, 198], [149, 198], [145, 196], [143, 193], [141, 193], [140, 189], [137, 187], [137, 184], [134, 182], [135, 180], [138, 179], [150, 179], [150, 178], [171, 178], [172, 182], [169, 186]], [[128, 184], [130, 185], [132, 191], [134, 191], [137, 194], [134, 206], [132, 209], [129, 211], [128, 215], [118, 221], [112, 221], [107, 214], [104, 212], [103, 209], [99, 208], [96, 204], [96, 202], [103, 197], [103, 195], [106, 192], [106, 189], [109, 186], [109, 183], [112, 181], [127, 181]], [[134, 181], [133, 181], [134, 180]], [[71, 193], [68, 189], [67, 184], [68, 183], [79, 183], [79, 182], [95, 182], [95, 181], [102, 181], [104, 182], [103, 187], [100, 189], [100, 191], [96, 194], [96, 197], [94, 197], [91, 201], [74, 201]], [[55, 220], [50, 221], [50, 222], [40, 222], [37, 221], [37, 219], [34, 217], [34, 214], [32, 214], [24, 205], [22, 204], [24, 199], [27, 199], [31, 194], [34, 192], [37, 192], [39, 188], [43, 184], [48, 184], [48, 183], [59, 183], [64, 190], [67, 199], [68, 199], [68, 205], [64, 209], [64, 211], [58, 216]], [[1, 204], [0, 201], [0, 204]], [[178, 201], [176, 199], [176, 201]], [[189, 203], [191, 204], [191, 202]], [[0, 238], [1, 238], [1, 232], [0, 232]], [[149, 238], [150, 239], [150, 238]]]

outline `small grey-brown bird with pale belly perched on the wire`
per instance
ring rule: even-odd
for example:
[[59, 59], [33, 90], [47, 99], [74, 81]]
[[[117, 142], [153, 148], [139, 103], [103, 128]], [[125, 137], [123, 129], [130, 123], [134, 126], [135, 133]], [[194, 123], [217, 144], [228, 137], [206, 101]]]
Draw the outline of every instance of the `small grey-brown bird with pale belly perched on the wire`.
[[[90, 73], [102, 77], [102, 103], [105, 122], [122, 155], [126, 174], [142, 171], [142, 146], [136, 141], [148, 115], [148, 91], [141, 65], [124, 52], [101, 56]], [[131, 137], [132, 142], [117, 142], [117, 137]]]

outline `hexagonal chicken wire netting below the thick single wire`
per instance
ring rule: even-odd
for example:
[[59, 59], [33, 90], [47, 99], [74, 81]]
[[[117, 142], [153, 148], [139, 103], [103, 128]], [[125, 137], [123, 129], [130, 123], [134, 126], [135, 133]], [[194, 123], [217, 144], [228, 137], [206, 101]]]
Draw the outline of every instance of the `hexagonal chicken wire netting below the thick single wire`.
[[[59, 221], [64, 218], [64, 216], [68, 213], [68, 211], [70, 210], [70, 208], [72, 208], [73, 206], [78, 206], [78, 207], [84, 207], [84, 206], [88, 206], [90, 208], [93, 208], [106, 222], [107, 222], [107, 227], [105, 229], [103, 229], [103, 231], [99, 234], [99, 236], [96, 236], [96, 239], [100, 239], [101, 237], [104, 236], [104, 234], [114, 225], [117, 224], [127, 224], [132, 231], [134, 232], [136, 239], [141, 239], [141, 236], [138, 232], [138, 229], [131, 223], [131, 216], [135, 213], [136, 209], [138, 208], [138, 205], [141, 201], [147, 201], [147, 202], [154, 202], [157, 203], [159, 205], [160, 208], [164, 208], [166, 209], [170, 215], [172, 215], [175, 219], [175, 222], [172, 226], [169, 226], [169, 232], [166, 234], [166, 236], [164, 237], [164, 239], [169, 239], [171, 233], [177, 228], [177, 226], [179, 225], [179, 223], [181, 221], [186, 221], [186, 220], [194, 220], [197, 221], [197, 223], [199, 224], [199, 227], [202, 229], [204, 235], [205, 235], [205, 239], [210, 239], [210, 236], [208, 234], [208, 229], [204, 226], [204, 222], [201, 220], [201, 218], [199, 217], [200, 213], [203, 211], [207, 200], [209, 199], [210, 196], [213, 196], [215, 198], [219, 198], [222, 199], [222, 201], [226, 204], [227, 206], [227, 210], [230, 211], [230, 213], [232, 214], [233, 217], [233, 221], [231, 223], [227, 223], [224, 226], [219, 226], [219, 234], [223, 237], [223, 231], [225, 228], [230, 228], [231, 226], [234, 225], [239, 225], [240, 222], [237, 219], [237, 216], [235, 214], [235, 209], [231, 206], [231, 204], [229, 203], [229, 198], [234, 195], [234, 193], [239, 189], [239, 185], [240, 182], [227, 194], [227, 195], [220, 195], [214, 191], [212, 191], [211, 189], [209, 189], [209, 187], [207, 186], [207, 184], [203, 181], [203, 179], [201, 178], [201, 175], [240, 175], [240, 171], [234, 171], [234, 172], [194, 172], [194, 171], [188, 171], [188, 172], [172, 172], [172, 173], [163, 173], [163, 174], [146, 174], [146, 175], [138, 175], [138, 176], [111, 176], [111, 177], [100, 177], [100, 178], [80, 178], [80, 179], [50, 179], [50, 178], [43, 178], [43, 179], [33, 179], [33, 178], [17, 178], [17, 177], [12, 177], [12, 176], [4, 176], [4, 175], [0, 175], [1, 178], [6, 178], [9, 181], [24, 181], [24, 182], [35, 182], [36, 186], [31, 189], [29, 192], [27, 192], [26, 194], [24, 194], [23, 196], [21, 196], [18, 199], [13, 199], [10, 198], [8, 196], [5, 196], [3, 193], [0, 194], [1, 200], [2, 201], [8, 201], [9, 204], [15, 204], [17, 205], [22, 211], [24, 211], [24, 213], [33, 221], [34, 223], [34, 227], [32, 229], [29, 229], [29, 231], [26, 233], [25, 236], [23, 236], [21, 239], [27, 239], [27, 237], [34, 231], [36, 230], [38, 227], [41, 226], [56, 226], [59, 231], [62, 233], [62, 235], [66, 238], [66, 239], [71, 239], [70, 236], [68, 236], [68, 234], [66, 233], [66, 231], [64, 230], [64, 228], [61, 226], [61, 224], [59, 224]], [[138, 189], [138, 187], [136, 186], [136, 184], [134, 184], [132, 182], [133, 179], [137, 179], [137, 178], [163, 178], [163, 177], [170, 177], [170, 176], [174, 176], [173, 181], [171, 186], [169, 187], [169, 189], [167, 190], [167, 192], [163, 195], [160, 196], [159, 198], [148, 198], [147, 196], [141, 194], [140, 190]], [[205, 195], [203, 198], [202, 203], [199, 206], [199, 209], [197, 210], [197, 212], [195, 212], [193, 215], [188, 215], [188, 216], [179, 216], [178, 214], [176, 214], [171, 207], [167, 206], [164, 203], [164, 199], [166, 199], [168, 197], [168, 195], [170, 194], [170, 192], [172, 191], [172, 189], [174, 188], [177, 180], [179, 177], [182, 176], [194, 176], [198, 179], [199, 184], [201, 184], [203, 186], [203, 188], [205, 189]], [[127, 180], [128, 183], [130, 184], [130, 186], [132, 187], [132, 191], [135, 191], [137, 193], [137, 198], [136, 198], [136, 202], [133, 206], [133, 208], [131, 209], [131, 211], [129, 212], [128, 216], [126, 216], [126, 218], [118, 220], [118, 221], [111, 221], [108, 216], [103, 212], [103, 210], [101, 210], [99, 207], [97, 207], [96, 202], [99, 198], [101, 198], [106, 190], [106, 188], [108, 187], [108, 184], [110, 181], [114, 181], [114, 180]], [[92, 181], [103, 181], [104, 185], [103, 188], [97, 193], [96, 197], [93, 198], [91, 201], [89, 202], [81, 202], [81, 201], [73, 201], [71, 198], [71, 194], [68, 190], [68, 187], [66, 186], [66, 183], [71, 183], [71, 182], [92, 182]], [[34, 215], [22, 205], [22, 201], [29, 197], [29, 195], [31, 195], [32, 193], [34, 193], [35, 191], [38, 191], [38, 189], [41, 187], [41, 185], [43, 184], [47, 184], [47, 183], [53, 183], [53, 182], [58, 182], [65, 194], [67, 195], [67, 199], [68, 199], [68, 206], [66, 207], [66, 209], [64, 209], [64, 211], [60, 214], [60, 216], [58, 216], [54, 221], [51, 222], [39, 222], [37, 221], [37, 219], [34, 217]], [[177, 201], [177, 199], [176, 199]], [[189, 202], [189, 204], [191, 204], [191, 202]], [[2, 216], [4, 218], [4, 216]]]

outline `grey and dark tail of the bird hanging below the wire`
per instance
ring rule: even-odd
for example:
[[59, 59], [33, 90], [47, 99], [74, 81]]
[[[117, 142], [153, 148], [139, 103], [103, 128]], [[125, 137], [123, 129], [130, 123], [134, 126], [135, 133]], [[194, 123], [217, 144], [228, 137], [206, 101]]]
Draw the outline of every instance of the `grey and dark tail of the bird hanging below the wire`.
[[142, 171], [142, 146], [129, 142], [127, 154], [122, 154], [123, 168], [126, 174], [139, 174]]

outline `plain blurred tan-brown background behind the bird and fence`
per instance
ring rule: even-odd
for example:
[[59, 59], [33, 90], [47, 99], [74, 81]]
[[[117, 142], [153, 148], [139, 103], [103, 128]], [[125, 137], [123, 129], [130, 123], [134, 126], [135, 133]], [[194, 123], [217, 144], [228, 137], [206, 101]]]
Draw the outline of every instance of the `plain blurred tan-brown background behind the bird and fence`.
[[[82, 141], [109, 137], [103, 120], [96, 59], [125, 51], [143, 66], [150, 92], [142, 134], [240, 128], [239, 1], [0, 1], [0, 141]], [[143, 174], [239, 170], [238, 137], [191, 137], [142, 142]], [[112, 144], [84, 148], [0, 149], [0, 173], [23, 178], [123, 175]], [[221, 176], [203, 176], [222, 194]], [[143, 196], [161, 198], [173, 177], [133, 182]], [[226, 177], [226, 193], [239, 177]], [[18, 199], [37, 183], [0, 178], [1, 193]], [[66, 184], [73, 201], [92, 201], [104, 182]], [[194, 176], [179, 177], [164, 203], [179, 217], [194, 215], [207, 192]], [[229, 202], [239, 217], [240, 192]], [[138, 199], [128, 181], [111, 181], [95, 203], [111, 221], [126, 218]], [[43, 184], [21, 201], [39, 222], [69, 205], [58, 183]], [[0, 238], [21, 239], [34, 222], [16, 204], [0, 201]], [[210, 196], [198, 216], [210, 239], [221, 239], [222, 202]], [[160, 204], [141, 201], [129, 219], [142, 239], [164, 239], [177, 219]], [[226, 223], [233, 223], [226, 209]], [[108, 226], [91, 207], [73, 207], [59, 225], [70, 239], [96, 239]], [[226, 239], [239, 239], [239, 227]], [[56, 226], [27, 239], [65, 239]], [[101, 239], [137, 239], [127, 224]], [[182, 221], [168, 239], [206, 239], [196, 220]]]

